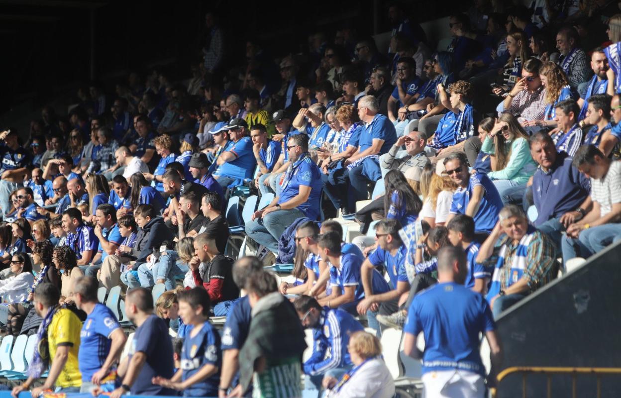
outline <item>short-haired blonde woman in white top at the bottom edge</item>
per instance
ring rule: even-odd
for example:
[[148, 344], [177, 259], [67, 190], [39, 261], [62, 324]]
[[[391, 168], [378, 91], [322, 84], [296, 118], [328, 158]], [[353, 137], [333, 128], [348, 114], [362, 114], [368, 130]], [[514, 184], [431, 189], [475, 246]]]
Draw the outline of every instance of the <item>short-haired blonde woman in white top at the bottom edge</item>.
[[382, 358], [379, 338], [369, 332], [355, 332], [350, 336], [347, 351], [353, 368], [340, 380], [325, 376], [323, 384], [328, 389], [325, 397], [391, 398], [394, 396], [394, 379]]

